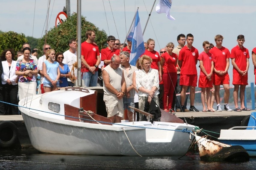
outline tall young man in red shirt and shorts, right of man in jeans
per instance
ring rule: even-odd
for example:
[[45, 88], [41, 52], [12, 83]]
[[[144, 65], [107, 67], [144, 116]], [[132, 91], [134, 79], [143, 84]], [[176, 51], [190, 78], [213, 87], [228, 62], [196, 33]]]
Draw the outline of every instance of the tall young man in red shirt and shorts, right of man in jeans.
[[185, 112], [184, 102], [186, 97], [186, 91], [188, 86], [190, 86], [190, 111], [199, 112], [194, 106], [195, 100], [195, 89], [197, 86], [197, 58], [198, 50], [192, 46], [194, 41], [194, 36], [192, 34], [187, 34], [186, 37], [187, 45], [185, 45], [178, 57], [178, 65], [181, 68], [180, 73], [180, 85], [182, 85], [181, 90], [181, 112]]

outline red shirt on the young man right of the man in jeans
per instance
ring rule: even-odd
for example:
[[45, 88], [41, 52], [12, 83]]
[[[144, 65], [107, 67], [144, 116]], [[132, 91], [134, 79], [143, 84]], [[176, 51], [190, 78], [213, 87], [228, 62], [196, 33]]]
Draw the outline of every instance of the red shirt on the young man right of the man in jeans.
[[181, 74], [183, 75], [197, 75], [196, 63], [198, 59], [198, 50], [193, 47], [191, 50], [185, 45], [180, 53], [178, 60], [182, 61]]

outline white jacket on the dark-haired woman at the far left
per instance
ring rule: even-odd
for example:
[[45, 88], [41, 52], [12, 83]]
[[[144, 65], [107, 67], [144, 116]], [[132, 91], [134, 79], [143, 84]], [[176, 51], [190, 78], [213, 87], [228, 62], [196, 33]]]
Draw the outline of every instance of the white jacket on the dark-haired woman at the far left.
[[16, 83], [17, 75], [15, 75], [16, 64], [17, 64], [17, 61], [12, 60], [11, 68], [9, 69], [8, 62], [6, 60], [2, 61], [2, 66], [3, 66], [3, 73], [1, 75], [2, 84], [6, 84], [7, 79], [11, 81], [12, 85], [17, 84]]

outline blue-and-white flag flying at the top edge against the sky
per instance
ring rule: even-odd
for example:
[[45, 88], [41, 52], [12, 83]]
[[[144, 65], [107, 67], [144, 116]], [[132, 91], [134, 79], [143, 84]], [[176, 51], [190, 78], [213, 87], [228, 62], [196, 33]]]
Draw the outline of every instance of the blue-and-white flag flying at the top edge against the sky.
[[175, 20], [170, 15], [170, 9], [172, 6], [172, 0], [159, 0], [159, 3], [156, 6], [157, 13], [166, 13], [166, 17], [170, 20]]

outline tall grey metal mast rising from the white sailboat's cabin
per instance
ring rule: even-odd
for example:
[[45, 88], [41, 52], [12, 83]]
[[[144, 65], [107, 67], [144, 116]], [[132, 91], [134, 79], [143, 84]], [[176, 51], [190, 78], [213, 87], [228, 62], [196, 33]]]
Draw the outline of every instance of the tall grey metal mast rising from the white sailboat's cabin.
[[81, 0], [77, 0], [77, 80], [81, 87]]

